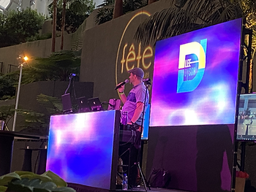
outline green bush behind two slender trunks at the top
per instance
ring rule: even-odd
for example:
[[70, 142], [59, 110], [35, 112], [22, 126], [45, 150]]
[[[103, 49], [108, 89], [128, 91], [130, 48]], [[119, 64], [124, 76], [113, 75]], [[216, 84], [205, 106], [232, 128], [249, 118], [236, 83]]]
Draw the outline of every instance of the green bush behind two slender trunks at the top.
[[[57, 4], [57, 30], [61, 31], [62, 20], [62, 0]], [[93, 0], [67, 0], [66, 16], [65, 16], [65, 31], [67, 33], [74, 33], [79, 26], [83, 23], [83, 20], [88, 18], [91, 12], [95, 8]], [[48, 11], [50, 18], [53, 18], [53, 3], [49, 5]]]

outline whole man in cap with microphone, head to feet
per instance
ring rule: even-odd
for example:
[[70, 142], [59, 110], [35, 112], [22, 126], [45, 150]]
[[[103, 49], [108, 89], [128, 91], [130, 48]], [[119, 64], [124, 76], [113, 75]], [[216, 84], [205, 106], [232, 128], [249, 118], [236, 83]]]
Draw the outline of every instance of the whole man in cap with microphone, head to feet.
[[[144, 100], [146, 98], [146, 107], [148, 105], [149, 93], [146, 95], [146, 86], [143, 83], [144, 72], [143, 69], [134, 68], [128, 71], [129, 74], [129, 82], [133, 85], [131, 91], [129, 91], [128, 96], [124, 94], [124, 85], [121, 88], [118, 88], [120, 93], [121, 101], [124, 104], [122, 112], [128, 112], [128, 121], [129, 125], [137, 125], [138, 131], [135, 131], [136, 138], [135, 143], [132, 146], [130, 164], [133, 165], [130, 168], [130, 175], [128, 175], [129, 185], [135, 187], [137, 185], [140, 174], [138, 172], [138, 167], [134, 166], [138, 161], [138, 153], [140, 148], [140, 137], [142, 131], [142, 118], [143, 118], [143, 108], [144, 108]], [[145, 107], [145, 109], [146, 109]], [[125, 149], [119, 149], [125, 150]], [[127, 158], [123, 158], [124, 164], [128, 161]]]

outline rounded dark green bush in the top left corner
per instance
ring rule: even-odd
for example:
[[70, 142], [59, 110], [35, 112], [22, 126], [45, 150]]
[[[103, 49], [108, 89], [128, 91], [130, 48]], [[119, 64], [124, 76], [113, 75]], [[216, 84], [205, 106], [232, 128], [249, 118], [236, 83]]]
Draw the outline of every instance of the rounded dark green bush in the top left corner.
[[0, 47], [26, 42], [28, 38], [38, 34], [44, 19], [30, 8], [22, 11], [12, 10], [6, 15], [0, 13]]

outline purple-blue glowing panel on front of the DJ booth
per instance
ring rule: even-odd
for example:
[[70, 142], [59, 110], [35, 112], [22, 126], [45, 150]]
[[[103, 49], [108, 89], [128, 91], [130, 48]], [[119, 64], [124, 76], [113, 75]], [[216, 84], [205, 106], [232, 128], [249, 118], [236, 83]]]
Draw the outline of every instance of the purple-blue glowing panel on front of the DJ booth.
[[50, 117], [46, 169], [67, 183], [110, 189], [116, 111]]

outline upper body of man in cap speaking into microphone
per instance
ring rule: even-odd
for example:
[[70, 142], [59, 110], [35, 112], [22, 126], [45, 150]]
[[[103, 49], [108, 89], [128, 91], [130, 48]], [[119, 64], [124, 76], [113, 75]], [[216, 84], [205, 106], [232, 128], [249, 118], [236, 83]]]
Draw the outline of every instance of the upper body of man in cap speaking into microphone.
[[[120, 93], [121, 101], [124, 104], [122, 112], [128, 112], [128, 121], [127, 124], [132, 125], [136, 124], [138, 126], [142, 126], [142, 118], [143, 118], [143, 108], [144, 108], [144, 100], [146, 94], [146, 86], [143, 83], [144, 72], [143, 69], [133, 68], [128, 71], [129, 74], [129, 82], [133, 85], [131, 91], [129, 91], [128, 96], [124, 93], [124, 85], [121, 88], [118, 88]], [[148, 97], [149, 94], [147, 92], [146, 96], [146, 107], [148, 106]], [[140, 130], [142, 131], [142, 130]]]

